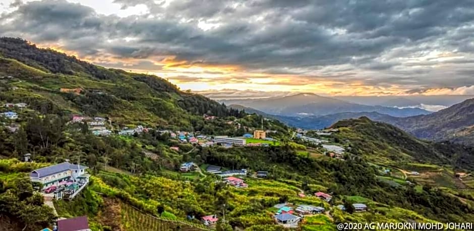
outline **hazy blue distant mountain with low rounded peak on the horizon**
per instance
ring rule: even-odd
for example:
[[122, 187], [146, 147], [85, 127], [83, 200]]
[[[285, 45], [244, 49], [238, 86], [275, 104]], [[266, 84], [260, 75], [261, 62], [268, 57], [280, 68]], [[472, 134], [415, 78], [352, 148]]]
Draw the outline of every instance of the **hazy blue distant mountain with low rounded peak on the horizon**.
[[378, 105], [364, 105], [323, 97], [313, 93], [299, 93], [290, 96], [265, 99], [221, 100], [227, 105], [239, 104], [278, 116], [325, 116], [341, 112], [378, 112], [393, 117], [418, 116], [430, 112], [421, 108], [396, 108]]

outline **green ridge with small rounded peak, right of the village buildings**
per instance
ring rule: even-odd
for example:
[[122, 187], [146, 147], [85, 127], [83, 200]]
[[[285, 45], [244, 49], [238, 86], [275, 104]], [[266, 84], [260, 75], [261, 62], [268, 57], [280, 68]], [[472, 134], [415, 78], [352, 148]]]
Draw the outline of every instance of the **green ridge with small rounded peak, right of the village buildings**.
[[392, 125], [373, 122], [366, 117], [343, 120], [331, 128], [339, 129], [339, 137], [349, 141], [350, 153], [372, 161], [418, 161], [474, 169], [474, 150], [470, 147], [419, 140]]

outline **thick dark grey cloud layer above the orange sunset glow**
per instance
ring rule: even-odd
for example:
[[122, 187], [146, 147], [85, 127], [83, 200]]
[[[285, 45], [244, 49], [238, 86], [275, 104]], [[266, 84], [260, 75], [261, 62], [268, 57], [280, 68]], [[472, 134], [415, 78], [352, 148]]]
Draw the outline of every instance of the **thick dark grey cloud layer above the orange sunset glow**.
[[[472, 62], [407, 61], [433, 50], [470, 57], [474, 1], [114, 2], [124, 9], [143, 4], [149, 13], [120, 18], [64, 0], [17, 1], [18, 9], [0, 18], [8, 22], [0, 23], [0, 32], [36, 43], [57, 42], [84, 56], [154, 60], [173, 56], [176, 61], [239, 65], [269, 74], [317, 75], [318, 79], [338, 74], [380, 86], [474, 84], [474, 78], [465, 77], [468, 71], [433, 68], [449, 64], [469, 69]], [[203, 29], [202, 24], [210, 26]], [[357, 72], [361, 74], [353, 74]], [[447, 79], [445, 74], [452, 73], [460, 76]]]

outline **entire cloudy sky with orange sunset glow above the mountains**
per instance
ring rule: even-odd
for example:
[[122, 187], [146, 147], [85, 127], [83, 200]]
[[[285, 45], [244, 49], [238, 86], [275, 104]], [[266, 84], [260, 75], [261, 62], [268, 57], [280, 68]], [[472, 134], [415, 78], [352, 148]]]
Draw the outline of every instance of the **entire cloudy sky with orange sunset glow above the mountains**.
[[0, 0], [0, 36], [207, 94], [474, 94], [472, 0]]

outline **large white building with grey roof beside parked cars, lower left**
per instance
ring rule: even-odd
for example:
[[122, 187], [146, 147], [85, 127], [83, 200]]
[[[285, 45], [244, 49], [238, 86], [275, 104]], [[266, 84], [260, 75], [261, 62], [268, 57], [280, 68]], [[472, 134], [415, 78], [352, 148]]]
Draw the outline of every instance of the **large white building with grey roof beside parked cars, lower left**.
[[30, 173], [30, 180], [32, 182], [41, 183], [43, 189], [53, 185], [58, 186], [66, 183], [68, 180], [78, 181], [80, 178], [85, 178], [85, 180], [88, 181], [89, 174], [86, 174], [85, 169], [88, 169], [88, 167], [64, 162], [33, 170]]

